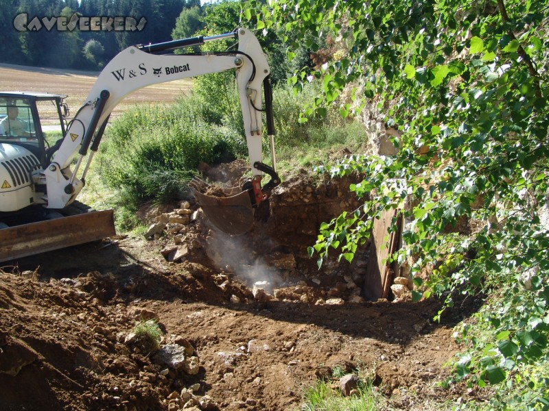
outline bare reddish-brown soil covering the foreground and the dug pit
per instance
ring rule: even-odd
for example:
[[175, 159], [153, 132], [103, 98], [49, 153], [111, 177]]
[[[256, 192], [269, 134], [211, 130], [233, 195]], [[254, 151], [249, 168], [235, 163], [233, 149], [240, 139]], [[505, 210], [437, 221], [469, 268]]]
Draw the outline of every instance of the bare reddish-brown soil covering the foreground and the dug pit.
[[[179, 410], [182, 390], [192, 388], [197, 401], [209, 398], [198, 409], [299, 410], [307, 387], [331, 381], [336, 367], [371, 379], [379, 410], [449, 409], [474, 395], [436, 382], [460, 349], [453, 327], [479, 301], [434, 323], [435, 299], [351, 299], [366, 257], [318, 271], [307, 256], [319, 222], [353, 207], [345, 184], [290, 179], [238, 238], [211, 227], [190, 199], [198, 213], [177, 261], [161, 253], [174, 245], [164, 232], [8, 263], [0, 273], [0, 409]], [[150, 207], [143, 220], [165, 211]], [[170, 369], [132, 345], [132, 328], [148, 319], [161, 327], [161, 345], [190, 343], [198, 372]]]

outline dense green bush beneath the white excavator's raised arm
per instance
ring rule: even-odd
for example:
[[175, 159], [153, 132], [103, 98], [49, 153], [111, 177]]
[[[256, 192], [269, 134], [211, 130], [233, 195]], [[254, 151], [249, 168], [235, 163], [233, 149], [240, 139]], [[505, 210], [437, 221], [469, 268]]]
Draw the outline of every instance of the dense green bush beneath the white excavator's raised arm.
[[100, 175], [124, 193], [126, 206], [180, 197], [200, 162], [218, 164], [246, 153], [240, 134], [207, 123], [197, 107], [200, 97], [191, 96], [170, 108], [135, 108], [108, 129], [98, 156]]

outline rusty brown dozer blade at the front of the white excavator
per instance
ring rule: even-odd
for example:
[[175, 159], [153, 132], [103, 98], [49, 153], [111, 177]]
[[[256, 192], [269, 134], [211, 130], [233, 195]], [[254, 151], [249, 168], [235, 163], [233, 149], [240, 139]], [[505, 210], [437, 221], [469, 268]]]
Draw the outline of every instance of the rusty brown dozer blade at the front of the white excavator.
[[113, 210], [0, 229], [0, 262], [114, 236]]

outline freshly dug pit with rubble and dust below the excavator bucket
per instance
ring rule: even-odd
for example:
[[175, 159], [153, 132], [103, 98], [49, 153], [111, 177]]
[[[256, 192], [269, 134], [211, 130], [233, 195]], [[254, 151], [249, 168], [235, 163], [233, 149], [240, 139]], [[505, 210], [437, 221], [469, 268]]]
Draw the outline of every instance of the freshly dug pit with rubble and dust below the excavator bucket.
[[[225, 186], [240, 184], [244, 170], [245, 162], [222, 164], [215, 169], [202, 167], [205, 177]], [[351, 264], [329, 260], [320, 270], [316, 258], [309, 258], [307, 252], [316, 241], [321, 223], [358, 207], [358, 199], [349, 191], [349, 184], [355, 182], [358, 177], [329, 179], [302, 171], [274, 188], [268, 201], [255, 210], [253, 228], [239, 236], [217, 229], [201, 212], [200, 204], [192, 200], [181, 201], [172, 212], [149, 210], [144, 214], [152, 226], [167, 221], [163, 232], [152, 234], [161, 238], [168, 232], [167, 237], [173, 238], [163, 250], [167, 260], [201, 264], [223, 273], [224, 281], [239, 281], [254, 293], [257, 290], [256, 299], [362, 302], [369, 244], [358, 251]], [[211, 193], [223, 195], [219, 186], [210, 188], [207, 194]], [[178, 217], [181, 215], [189, 215], [189, 223], [170, 227], [176, 221], [187, 222]], [[180, 231], [176, 232], [178, 227]], [[301, 294], [293, 292], [292, 287], [302, 290]], [[233, 301], [237, 299], [233, 297]]]

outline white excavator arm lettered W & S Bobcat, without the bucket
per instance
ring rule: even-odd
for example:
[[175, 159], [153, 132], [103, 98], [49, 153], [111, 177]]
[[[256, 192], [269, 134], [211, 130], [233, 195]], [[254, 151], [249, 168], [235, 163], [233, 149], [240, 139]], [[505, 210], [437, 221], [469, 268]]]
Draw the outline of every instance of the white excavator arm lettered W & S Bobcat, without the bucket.
[[[237, 51], [157, 54], [231, 37], [238, 40]], [[121, 99], [152, 84], [228, 70], [236, 71], [250, 168], [254, 176], [261, 176], [261, 170], [256, 167], [257, 164], [262, 164], [261, 88], [270, 69], [253, 33], [246, 29], [237, 29], [234, 33], [209, 38], [197, 37], [157, 45], [128, 47], [110, 60], [97, 77], [86, 102], [71, 121], [53, 161], [40, 175], [46, 186], [42, 199], [44, 206], [64, 208], [74, 201], [84, 186], [84, 182], [76, 176], [80, 164], [89, 147], [92, 151], [97, 150], [108, 117]], [[96, 129], [100, 129], [100, 132], [96, 133]], [[75, 157], [78, 160], [71, 169], [71, 162]]]

